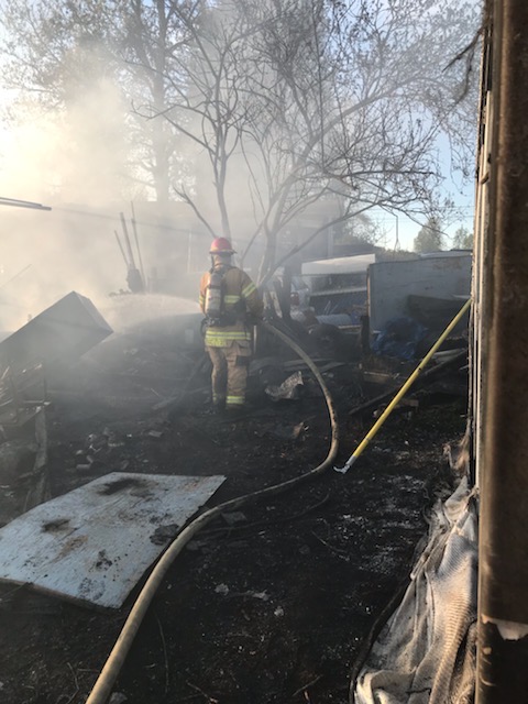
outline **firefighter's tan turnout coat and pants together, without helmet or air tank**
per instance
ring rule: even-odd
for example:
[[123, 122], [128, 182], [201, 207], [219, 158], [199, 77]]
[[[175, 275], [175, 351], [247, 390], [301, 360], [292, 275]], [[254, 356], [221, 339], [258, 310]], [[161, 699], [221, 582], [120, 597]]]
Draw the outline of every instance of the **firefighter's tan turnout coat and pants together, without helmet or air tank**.
[[[199, 304], [206, 308], [210, 272], [200, 282]], [[252, 330], [248, 314], [261, 318], [264, 310], [261, 295], [245, 272], [226, 267], [223, 275], [223, 315], [215, 324], [207, 324], [206, 349], [212, 362], [212, 402], [216, 406], [237, 408], [245, 402], [248, 369], [251, 358]]]

